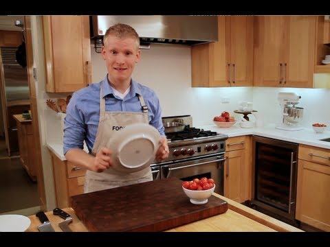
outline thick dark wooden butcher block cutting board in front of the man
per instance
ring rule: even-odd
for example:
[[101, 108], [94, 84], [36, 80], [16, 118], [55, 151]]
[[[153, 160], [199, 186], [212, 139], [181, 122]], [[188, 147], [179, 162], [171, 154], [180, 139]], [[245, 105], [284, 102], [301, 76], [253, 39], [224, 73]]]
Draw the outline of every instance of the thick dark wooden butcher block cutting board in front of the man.
[[164, 231], [225, 213], [228, 204], [211, 196], [192, 204], [178, 178], [72, 196], [72, 208], [89, 231]]

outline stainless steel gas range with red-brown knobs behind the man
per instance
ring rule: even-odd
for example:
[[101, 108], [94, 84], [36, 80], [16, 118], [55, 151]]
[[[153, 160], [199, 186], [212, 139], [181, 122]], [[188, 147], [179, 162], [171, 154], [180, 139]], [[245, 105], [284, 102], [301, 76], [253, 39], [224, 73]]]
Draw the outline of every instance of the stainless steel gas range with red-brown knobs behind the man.
[[166, 123], [184, 124], [180, 131], [167, 132], [169, 155], [165, 161], [153, 163], [153, 178], [177, 177], [181, 180], [192, 178], [213, 178], [215, 192], [223, 195], [223, 165], [225, 161], [225, 140], [227, 134], [192, 127], [190, 115], [163, 117]]

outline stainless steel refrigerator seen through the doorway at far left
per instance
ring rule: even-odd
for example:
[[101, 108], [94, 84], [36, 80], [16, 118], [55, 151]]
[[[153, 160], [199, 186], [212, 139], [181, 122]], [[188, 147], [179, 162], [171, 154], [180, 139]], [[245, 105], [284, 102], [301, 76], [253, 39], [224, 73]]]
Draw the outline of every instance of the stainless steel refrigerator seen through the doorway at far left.
[[1, 49], [1, 104], [8, 156], [19, 151], [17, 123], [12, 115], [30, 110], [28, 72], [17, 62], [18, 47]]

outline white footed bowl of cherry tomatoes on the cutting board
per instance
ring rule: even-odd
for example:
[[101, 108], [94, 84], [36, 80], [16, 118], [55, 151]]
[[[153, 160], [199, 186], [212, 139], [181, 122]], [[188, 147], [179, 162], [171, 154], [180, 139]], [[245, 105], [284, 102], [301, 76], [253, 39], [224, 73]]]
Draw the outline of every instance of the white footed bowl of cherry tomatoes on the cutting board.
[[192, 204], [206, 204], [208, 198], [212, 196], [215, 184], [212, 178], [194, 178], [191, 181], [182, 182], [182, 189]]

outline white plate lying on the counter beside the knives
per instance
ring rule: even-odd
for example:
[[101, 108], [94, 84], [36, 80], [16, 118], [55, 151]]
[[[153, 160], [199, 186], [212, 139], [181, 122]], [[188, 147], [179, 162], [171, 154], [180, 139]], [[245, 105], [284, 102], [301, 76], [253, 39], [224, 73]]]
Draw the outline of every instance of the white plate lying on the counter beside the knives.
[[0, 232], [23, 232], [31, 220], [24, 215], [0, 215]]

